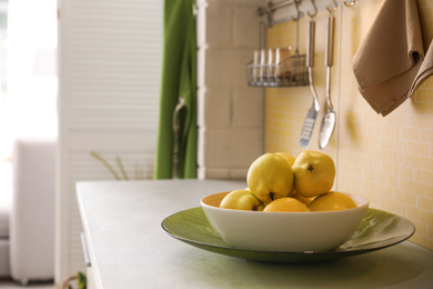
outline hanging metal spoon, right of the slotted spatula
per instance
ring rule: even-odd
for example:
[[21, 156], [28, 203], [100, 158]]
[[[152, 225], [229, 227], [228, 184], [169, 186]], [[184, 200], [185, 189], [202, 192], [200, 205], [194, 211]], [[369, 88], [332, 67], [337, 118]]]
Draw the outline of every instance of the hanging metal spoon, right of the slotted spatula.
[[334, 17], [333, 12], [328, 18], [328, 33], [325, 46], [325, 66], [326, 66], [326, 103], [328, 111], [323, 116], [319, 133], [319, 148], [323, 149], [328, 146], [332, 132], [335, 128], [335, 110], [331, 101], [331, 67], [333, 62], [333, 47], [334, 47]]

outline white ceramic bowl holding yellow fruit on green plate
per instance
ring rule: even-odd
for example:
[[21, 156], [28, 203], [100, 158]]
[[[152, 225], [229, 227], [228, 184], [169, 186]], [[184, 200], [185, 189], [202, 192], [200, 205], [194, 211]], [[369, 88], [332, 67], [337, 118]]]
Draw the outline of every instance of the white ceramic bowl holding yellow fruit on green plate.
[[341, 211], [263, 212], [219, 208], [229, 192], [204, 197], [201, 206], [213, 229], [238, 249], [329, 251], [345, 242], [361, 223], [370, 201], [350, 196], [356, 208]]

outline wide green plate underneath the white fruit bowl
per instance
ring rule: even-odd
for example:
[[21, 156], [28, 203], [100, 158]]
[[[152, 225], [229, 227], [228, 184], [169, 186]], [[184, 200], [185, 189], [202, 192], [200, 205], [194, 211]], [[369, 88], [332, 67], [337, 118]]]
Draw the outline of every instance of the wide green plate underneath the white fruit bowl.
[[415, 232], [415, 227], [409, 220], [376, 209], [369, 209], [353, 236], [332, 251], [270, 252], [232, 248], [213, 230], [201, 207], [171, 215], [162, 221], [162, 228], [178, 240], [215, 253], [292, 263], [325, 261], [375, 251], [402, 242]]

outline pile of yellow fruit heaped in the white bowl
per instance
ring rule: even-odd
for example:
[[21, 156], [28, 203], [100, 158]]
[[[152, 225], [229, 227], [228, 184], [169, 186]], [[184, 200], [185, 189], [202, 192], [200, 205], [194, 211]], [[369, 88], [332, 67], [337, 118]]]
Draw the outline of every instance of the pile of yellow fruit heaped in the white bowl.
[[331, 191], [335, 165], [325, 153], [305, 150], [265, 153], [250, 166], [248, 188], [228, 193], [220, 208], [252, 211], [332, 211], [355, 208], [348, 195]]

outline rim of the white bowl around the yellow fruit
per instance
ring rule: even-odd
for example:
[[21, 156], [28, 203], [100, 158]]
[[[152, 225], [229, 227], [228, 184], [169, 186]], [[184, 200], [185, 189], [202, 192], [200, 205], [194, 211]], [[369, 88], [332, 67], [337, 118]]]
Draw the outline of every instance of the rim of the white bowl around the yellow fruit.
[[[309, 213], [309, 215], [323, 215], [323, 213], [342, 213], [342, 212], [349, 212], [349, 211], [353, 211], [353, 210], [360, 210], [362, 208], [369, 208], [370, 206], [370, 200], [364, 197], [364, 196], [361, 196], [361, 195], [353, 195], [353, 193], [349, 193], [349, 192], [343, 192], [343, 191], [338, 191], [338, 192], [341, 192], [341, 193], [344, 193], [344, 195], [348, 195], [349, 197], [351, 197], [353, 199], [353, 201], [356, 203], [356, 208], [351, 208], [351, 209], [345, 209], [345, 210], [335, 210], [335, 211], [250, 211], [250, 210], [236, 210], [236, 209], [225, 209], [225, 208], [220, 208], [220, 207], [216, 207], [216, 206], [212, 206], [212, 205], [209, 205], [207, 202], [204, 202], [204, 200], [207, 198], [210, 198], [212, 196], [216, 196], [216, 195], [228, 195], [229, 192], [231, 191], [222, 191], [222, 192], [215, 192], [215, 193], [211, 193], [211, 195], [208, 195], [203, 198], [201, 198], [200, 200], [200, 205], [201, 207], [204, 207], [204, 208], [209, 208], [209, 209], [212, 209], [212, 210], [219, 210], [219, 211], [235, 211], [235, 212], [239, 212], [239, 213], [272, 213], [272, 215], [304, 215], [304, 213]], [[359, 200], [359, 202], [356, 202], [356, 200]]]

